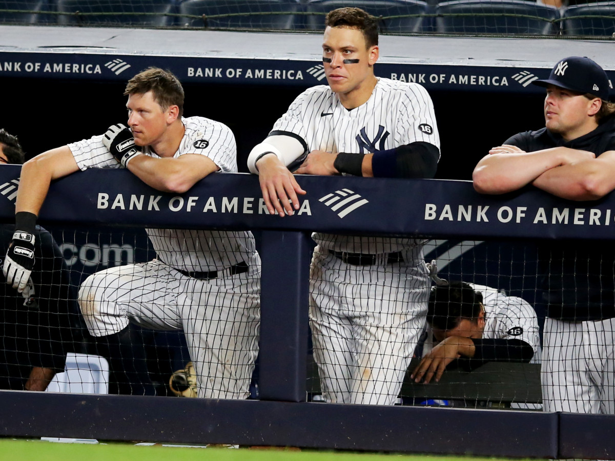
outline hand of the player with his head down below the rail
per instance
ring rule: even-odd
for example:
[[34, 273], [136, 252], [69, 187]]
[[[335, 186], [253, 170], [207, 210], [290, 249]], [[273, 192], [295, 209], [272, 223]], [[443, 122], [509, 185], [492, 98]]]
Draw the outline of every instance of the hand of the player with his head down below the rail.
[[410, 379], [414, 379], [415, 382], [421, 382], [424, 379], [425, 384], [429, 384], [435, 376], [435, 381], [438, 382], [446, 366], [461, 355], [467, 357], [474, 355], [472, 339], [461, 336], [447, 337], [423, 357], [423, 360], [412, 371]]

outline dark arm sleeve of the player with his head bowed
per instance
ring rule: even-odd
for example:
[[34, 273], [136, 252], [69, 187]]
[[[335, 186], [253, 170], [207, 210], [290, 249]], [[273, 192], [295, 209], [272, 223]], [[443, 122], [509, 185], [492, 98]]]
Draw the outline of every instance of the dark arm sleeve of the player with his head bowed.
[[472, 371], [490, 361], [529, 362], [534, 357], [534, 349], [521, 339], [472, 339], [474, 357], [459, 358], [459, 366]]

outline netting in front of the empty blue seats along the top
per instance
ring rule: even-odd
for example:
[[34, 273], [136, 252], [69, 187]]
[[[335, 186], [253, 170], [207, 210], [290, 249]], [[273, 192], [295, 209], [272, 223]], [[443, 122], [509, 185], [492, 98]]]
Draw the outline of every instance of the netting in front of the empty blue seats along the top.
[[615, 3], [587, 0], [0, 1], [0, 23], [317, 31], [338, 7], [379, 18], [381, 33], [612, 37]]

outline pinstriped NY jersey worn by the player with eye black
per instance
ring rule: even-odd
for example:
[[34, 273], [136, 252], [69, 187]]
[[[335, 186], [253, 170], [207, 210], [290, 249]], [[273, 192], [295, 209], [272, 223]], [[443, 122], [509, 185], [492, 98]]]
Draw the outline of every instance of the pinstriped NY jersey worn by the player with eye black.
[[[378, 78], [371, 97], [349, 111], [328, 85], [301, 93], [273, 132], [291, 132], [305, 141], [308, 152], [367, 154], [415, 141], [440, 148], [434, 105], [421, 85]], [[315, 234], [325, 248], [352, 253], [385, 253], [415, 246], [410, 238], [342, 237]]]

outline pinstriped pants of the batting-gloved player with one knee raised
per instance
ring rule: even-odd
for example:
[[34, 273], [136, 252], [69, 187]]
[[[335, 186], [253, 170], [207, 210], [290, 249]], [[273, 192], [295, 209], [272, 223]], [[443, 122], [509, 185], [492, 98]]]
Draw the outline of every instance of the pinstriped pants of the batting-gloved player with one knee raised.
[[160, 261], [90, 275], [79, 306], [92, 336], [145, 328], [183, 329], [199, 397], [247, 398], [258, 353], [260, 258], [250, 272], [198, 280]]

